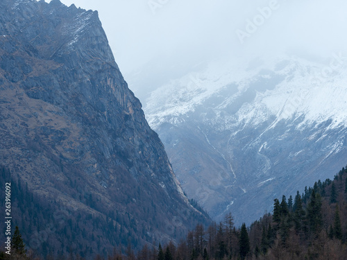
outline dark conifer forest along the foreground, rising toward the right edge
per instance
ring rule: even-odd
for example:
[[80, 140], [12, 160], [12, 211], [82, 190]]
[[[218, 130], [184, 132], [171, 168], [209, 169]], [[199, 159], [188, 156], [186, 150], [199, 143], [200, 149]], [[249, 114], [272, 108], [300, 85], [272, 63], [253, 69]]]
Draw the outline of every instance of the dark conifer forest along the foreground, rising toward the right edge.
[[[2, 171], [4, 174], [4, 171]], [[2, 179], [3, 180], [3, 179]], [[18, 187], [19, 189], [19, 187]], [[26, 187], [20, 187], [29, 196]], [[26, 203], [33, 203], [33, 197], [22, 197]], [[347, 256], [347, 166], [342, 168], [334, 180], [320, 180], [313, 187], [305, 188], [296, 196], [275, 199], [272, 214], [265, 214], [250, 227], [245, 224], [235, 227], [231, 214], [220, 223], [208, 228], [196, 225], [186, 239], [167, 245], [144, 245], [134, 252], [131, 243], [127, 247], [115, 246], [113, 252], [96, 255], [101, 260], [210, 260], [210, 259], [346, 259]], [[29, 214], [29, 212], [27, 212]], [[35, 218], [35, 216], [32, 216]], [[24, 218], [24, 216], [22, 216]], [[37, 218], [37, 217], [36, 217]], [[52, 216], [53, 218], [53, 216]], [[105, 232], [108, 230], [107, 223]], [[21, 222], [19, 229], [24, 237], [30, 238], [30, 223]], [[64, 223], [65, 228], [69, 223]], [[90, 223], [90, 225], [94, 225]], [[99, 224], [100, 225], [100, 224]], [[16, 229], [17, 230], [17, 229]], [[87, 234], [85, 234], [87, 236]], [[15, 236], [13, 236], [15, 237]], [[16, 236], [18, 238], [18, 234]], [[79, 239], [71, 234], [71, 240]], [[13, 240], [13, 239], [12, 239]], [[20, 240], [20, 239], [19, 239]], [[23, 239], [24, 243], [28, 243]], [[130, 240], [129, 240], [130, 241]], [[20, 241], [16, 242], [20, 244]], [[30, 243], [30, 242], [29, 242]], [[46, 243], [46, 241], [44, 241]], [[94, 242], [93, 242], [94, 243]], [[12, 241], [12, 245], [14, 242]], [[66, 245], [65, 245], [66, 246]], [[102, 247], [102, 244], [99, 245]], [[53, 256], [46, 243], [45, 257], [38, 257], [35, 251], [24, 252], [12, 259], [84, 259], [71, 248], [69, 255]], [[17, 252], [14, 249], [15, 252]], [[42, 253], [40, 254], [42, 255]], [[7, 258], [6, 258], [7, 257]], [[1, 253], [0, 259], [11, 259]]]

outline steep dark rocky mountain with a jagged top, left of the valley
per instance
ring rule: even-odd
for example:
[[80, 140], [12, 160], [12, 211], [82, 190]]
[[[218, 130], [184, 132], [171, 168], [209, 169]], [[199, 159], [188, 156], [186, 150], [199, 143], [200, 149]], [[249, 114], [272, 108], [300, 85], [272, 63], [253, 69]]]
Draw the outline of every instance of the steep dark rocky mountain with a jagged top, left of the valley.
[[0, 107], [3, 182], [21, 194], [12, 225], [43, 257], [138, 248], [210, 221], [184, 195], [96, 11], [1, 1]]

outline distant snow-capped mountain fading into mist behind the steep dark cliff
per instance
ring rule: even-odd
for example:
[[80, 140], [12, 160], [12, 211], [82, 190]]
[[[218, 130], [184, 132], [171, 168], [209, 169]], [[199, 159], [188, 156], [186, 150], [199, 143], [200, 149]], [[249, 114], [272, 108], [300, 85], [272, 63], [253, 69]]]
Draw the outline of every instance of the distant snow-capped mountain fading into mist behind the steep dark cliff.
[[144, 111], [187, 196], [249, 224], [346, 161], [345, 71], [341, 53], [216, 63], [152, 92]]

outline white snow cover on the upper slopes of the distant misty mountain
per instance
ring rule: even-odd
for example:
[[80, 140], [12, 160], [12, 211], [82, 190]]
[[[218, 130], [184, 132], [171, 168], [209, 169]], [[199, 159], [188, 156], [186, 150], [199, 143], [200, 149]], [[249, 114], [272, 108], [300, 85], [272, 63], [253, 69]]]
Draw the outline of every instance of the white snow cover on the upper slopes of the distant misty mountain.
[[[346, 58], [334, 54], [325, 63], [286, 57], [255, 69], [240, 64], [222, 69], [210, 66], [196, 76], [189, 74], [172, 80], [152, 92], [144, 110], [154, 129], [163, 122], [180, 123], [183, 115], [194, 112], [198, 105], [228, 86], [234, 86], [235, 94], [224, 96], [222, 103], [212, 107], [217, 114], [227, 111], [248, 92], [255, 92], [255, 97], [244, 102], [230, 120], [226, 118], [226, 128], [227, 121], [258, 125], [271, 116], [276, 116], [276, 120], [269, 129], [282, 119], [298, 116], [305, 118], [298, 128], [328, 119], [332, 120], [330, 127], [336, 128], [347, 125], [346, 63]], [[264, 85], [268, 85], [266, 89]]]

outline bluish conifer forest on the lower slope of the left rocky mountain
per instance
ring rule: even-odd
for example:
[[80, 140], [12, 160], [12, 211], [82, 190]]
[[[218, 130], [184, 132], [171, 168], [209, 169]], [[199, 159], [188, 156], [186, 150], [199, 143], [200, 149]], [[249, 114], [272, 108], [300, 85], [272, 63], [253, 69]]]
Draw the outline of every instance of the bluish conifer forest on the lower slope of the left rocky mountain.
[[[15, 230], [16, 225], [19, 227], [26, 248], [32, 255], [40, 256], [42, 259], [47, 259], [51, 255], [62, 257], [62, 259], [67, 256], [92, 259], [95, 252], [103, 252], [103, 257], [111, 254], [115, 246], [122, 248], [122, 252], [126, 252], [130, 244], [133, 250], [138, 251], [146, 241], [150, 241], [147, 229], [139, 225], [132, 214], [122, 209], [107, 211], [102, 208], [101, 198], [94, 197], [92, 193], [76, 191], [76, 196], [81, 196], [81, 200], [95, 211], [107, 212], [107, 214], [93, 212], [84, 214], [72, 207], [60, 207], [54, 200], [48, 200], [46, 196], [42, 196], [42, 193], [31, 191], [28, 184], [0, 164], [0, 187], [5, 187], [6, 182], [11, 182], [11, 213], [14, 221], [12, 231]], [[76, 183], [76, 180], [71, 182]], [[123, 199], [124, 203], [131, 205], [129, 201], [133, 198], [133, 193], [138, 192], [140, 192], [138, 189], [129, 187], [128, 193], [118, 196], [117, 200]], [[202, 210], [194, 200], [191, 202], [197, 209]], [[4, 207], [3, 203], [0, 208], [3, 214], [5, 214]], [[152, 228], [155, 225], [158, 226], [157, 220], [161, 216], [158, 214], [156, 205], [142, 203], [137, 206], [137, 211], [144, 212], [142, 216], [148, 219]], [[203, 214], [207, 216], [207, 213], [203, 212]], [[200, 221], [192, 219], [193, 216], [190, 216], [188, 212], [186, 216], [192, 223]], [[0, 229], [5, 230], [5, 228], [5, 223], [1, 221]], [[185, 237], [185, 232], [176, 227], [172, 228], [171, 234], [172, 237]], [[169, 241], [169, 238], [165, 237], [162, 240]]]

